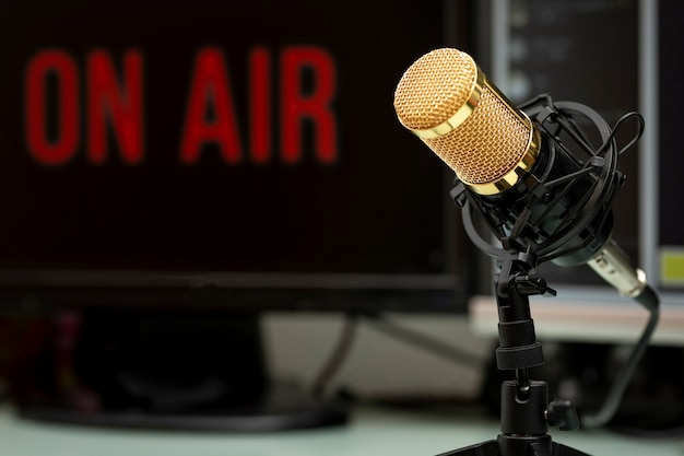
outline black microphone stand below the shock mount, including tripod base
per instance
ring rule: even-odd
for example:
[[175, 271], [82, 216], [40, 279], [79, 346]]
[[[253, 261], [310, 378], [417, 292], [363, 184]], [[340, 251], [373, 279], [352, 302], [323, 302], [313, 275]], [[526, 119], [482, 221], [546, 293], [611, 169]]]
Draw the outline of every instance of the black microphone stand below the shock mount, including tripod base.
[[438, 456], [588, 456], [552, 441], [549, 425], [563, 431], [579, 429], [577, 411], [568, 400], [550, 402], [547, 384], [530, 379], [529, 370], [544, 360], [529, 296], [556, 293], [544, 279], [530, 276], [536, 262], [530, 248], [515, 248], [509, 238], [503, 239], [503, 244], [497, 258], [499, 273], [494, 277], [499, 318], [496, 363], [502, 371], [515, 371], [516, 379], [502, 385], [502, 433], [496, 440]]

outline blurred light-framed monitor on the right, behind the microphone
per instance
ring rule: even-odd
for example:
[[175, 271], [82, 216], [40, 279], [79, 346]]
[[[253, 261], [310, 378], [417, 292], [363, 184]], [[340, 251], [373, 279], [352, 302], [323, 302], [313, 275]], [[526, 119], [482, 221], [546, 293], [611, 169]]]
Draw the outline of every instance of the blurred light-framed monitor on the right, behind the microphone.
[[[659, 291], [662, 315], [653, 343], [681, 346], [684, 293], [677, 221], [682, 210], [672, 188], [679, 169], [675, 105], [681, 69], [669, 57], [682, 47], [679, 4], [485, 3], [488, 8], [481, 8], [480, 17], [490, 27], [480, 28], [487, 32], [477, 43], [484, 47], [481, 54], [490, 57], [485, 65], [492, 79], [515, 103], [549, 93], [554, 101], [590, 106], [611, 126], [628, 112], [645, 117], [642, 138], [620, 159], [626, 183], [613, 206], [613, 237]], [[628, 142], [633, 131], [625, 126], [620, 143]], [[640, 334], [646, 311], [618, 295], [590, 268], [544, 264], [539, 272], [558, 290], [552, 300], [533, 300], [541, 337], [628, 343]], [[471, 311], [475, 328], [495, 332], [497, 315], [491, 297], [473, 300]]]

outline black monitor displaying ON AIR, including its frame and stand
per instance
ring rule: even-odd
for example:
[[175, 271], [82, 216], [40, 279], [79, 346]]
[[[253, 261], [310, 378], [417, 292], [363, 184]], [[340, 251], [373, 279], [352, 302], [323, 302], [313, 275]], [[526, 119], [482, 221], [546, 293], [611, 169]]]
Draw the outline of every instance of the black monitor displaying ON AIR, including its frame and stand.
[[71, 374], [157, 412], [198, 382], [261, 396], [262, 312], [463, 313], [450, 177], [392, 109], [463, 3], [4, 5], [2, 306], [75, 308]]

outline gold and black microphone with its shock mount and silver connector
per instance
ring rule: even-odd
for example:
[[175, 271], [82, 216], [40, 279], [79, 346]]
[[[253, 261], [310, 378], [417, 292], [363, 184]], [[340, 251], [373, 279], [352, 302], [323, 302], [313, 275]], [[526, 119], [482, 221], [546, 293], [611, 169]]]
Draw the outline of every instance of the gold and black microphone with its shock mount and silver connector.
[[[591, 117], [615, 145], [610, 128], [586, 106], [556, 105], [535, 107], [533, 122], [470, 56], [449, 48], [416, 60], [394, 93], [400, 122], [453, 169], [463, 198], [499, 238], [531, 246], [540, 262], [588, 264], [621, 294], [650, 301], [654, 292], [644, 272], [611, 238], [611, 203], [624, 183], [617, 153], [577, 156], [559, 138], [559, 127], [576, 130], [566, 118], [573, 112]], [[589, 149], [582, 135], [574, 135], [580, 149]]]

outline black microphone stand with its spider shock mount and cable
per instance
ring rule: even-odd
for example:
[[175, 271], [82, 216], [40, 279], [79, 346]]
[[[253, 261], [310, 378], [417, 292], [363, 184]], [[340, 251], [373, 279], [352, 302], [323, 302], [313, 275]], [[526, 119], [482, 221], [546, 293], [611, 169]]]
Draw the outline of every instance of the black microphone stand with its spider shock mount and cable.
[[[530, 378], [530, 369], [543, 364], [544, 360], [542, 346], [536, 341], [534, 332], [529, 297], [556, 294], [546, 285], [544, 279], [531, 274], [534, 273], [536, 266], [544, 261], [564, 255], [574, 255], [587, 247], [586, 244], [578, 244], [578, 241], [587, 243], [602, 236], [606, 237], [606, 234], [601, 231], [610, 229], [612, 222], [608, 221], [610, 211], [605, 208], [610, 208], [617, 189], [624, 182], [622, 173], [616, 171], [616, 162], [620, 155], [638, 140], [644, 119], [636, 113], [629, 113], [623, 116], [611, 130], [605, 120], [593, 109], [571, 102], [554, 104], [549, 95], [540, 95], [526, 104], [526, 108], [547, 139], [545, 143], [549, 148], [550, 161], [555, 160], [556, 154], [561, 154], [566, 156], [567, 163], [585, 164], [582, 169], [563, 177], [549, 177], [544, 172], [531, 183], [526, 182], [531, 198], [526, 201], [530, 204], [541, 201], [544, 213], [549, 213], [554, 210], [554, 206], [564, 197], [566, 190], [569, 191], [578, 179], [585, 179], [587, 173], [592, 174], [591, 178], [585, 180], [591, 183], [591, 190], [587, 192], [588, 199], [581, 198], [580, 203], [575, 203], [575, 212], [569, 215], [558, 215], [563, 219], [559, 224], [563, 229], [557, 226], [556, 231], [540, 243], [534, 236], [528, 237], [527, 241], [519, 236], [531, 213], [530, 206], [522, 208], [515, 221], [508, 221], [511, 226], [507, 234], [502, 227], [506, 225], [506, 219], [510, 214], [506, 212], [502, 217], [500, 213], [507, 209], [498, 210], [490, 203], [477, 200], [465, 190], [464, 184], [457, 179], [450, 197], [462, 209], [465, 232], [480, 250], [497, 260], [498, 273], [494, 276], [499, 319], [499, 347], [496, 349], [496, 363], [500, 371], [514, 371], [516, 379], [504, 382], [502, 385], [502, 433], [496, 440], [438, 456], [588, 456], [586, 453], [552, 441], [547, 433], [550, 425], [557, 426], [562, 431], [579, 429], [577, 411], [568, 400], [554, 399], [550, 402], [547, 384]], [[599, 149], [588, 143], [585, 133], [573, 120], [573, 113], [581, 115], [597, 127], [603, 140]], [[614, 138], [615, 132], [624, 120], [633, 117], [639, 120], [639, 132], [627, 145], [618, 150]], [[569, 135], [568, 143], [563, 144], [557, 138], [561, 130]], [[575, 157], [568, 148], [569, 144], [576, 144], [580, 151], [588, 154], [589, 160]], [[563, 171], [562, 168], [561, 166], [558, 171]], [[556, 187], [555, 191], [549, 191], [558, 184], [562, 184], [563, 188]], [[549, 195], [552, 196], [551, 199], [546, 198]], [[488, 224], [490, 231], [495, 233], [500, 241], [502, 248], [494, 246], [479, 234], [473, 212], [482, 215], [482, 221]], [[589, 235], [582, 234], [583, 230], [589, 230]], [[650, 287], [646, 287], [634, 299], [650, 312], [650, 318], [632, 355], [621, 370], [620, 381], [613, 385], [602, 409], [598, 414], [587, 417], [587, 423], [594, 426], [605, 423], [616, 410], [627, 382], [648, 346], [658, 321], [659, 299]]]

